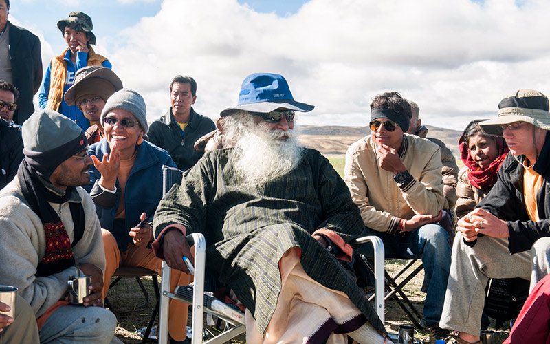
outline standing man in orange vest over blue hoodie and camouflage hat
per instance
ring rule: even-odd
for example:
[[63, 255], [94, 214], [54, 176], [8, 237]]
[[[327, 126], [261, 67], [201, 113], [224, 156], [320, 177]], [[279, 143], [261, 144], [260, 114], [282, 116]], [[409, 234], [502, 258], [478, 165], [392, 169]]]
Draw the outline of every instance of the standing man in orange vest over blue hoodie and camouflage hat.
[[90, 126], [89, 120], [76, 105], [65, 103], [63, 95], [74, 84], [79, 69], [90, 65], [112, 68], [112, 65], [91, 47], [96, 44], [96, 36], [91, 32], [94, 25], [87, 14], [71, 12], [69, 18], [58, 21], [57, 28], [63, 33], [68, 47], [63, 54], [52, 58], [47, 66], [39, 92], [40, 108], [58, 111], [86, 130]]

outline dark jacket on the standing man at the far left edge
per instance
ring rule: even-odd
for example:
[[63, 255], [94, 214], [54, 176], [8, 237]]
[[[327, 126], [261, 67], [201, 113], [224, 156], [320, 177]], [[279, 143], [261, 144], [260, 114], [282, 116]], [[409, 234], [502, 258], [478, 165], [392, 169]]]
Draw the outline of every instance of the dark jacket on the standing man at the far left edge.
[[41, 46], [37, 36], [10, 21], [10, 58], [12, 60], [13, 84], [19, 91], [17, 110], [13, 121], [22, 125], [34, 111], [32, 97], [42, 82]]

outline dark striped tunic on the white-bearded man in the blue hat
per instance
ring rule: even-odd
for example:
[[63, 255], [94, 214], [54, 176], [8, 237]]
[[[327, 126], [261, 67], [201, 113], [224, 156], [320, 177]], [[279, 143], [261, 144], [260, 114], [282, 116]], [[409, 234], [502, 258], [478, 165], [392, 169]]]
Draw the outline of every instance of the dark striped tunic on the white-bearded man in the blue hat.
[[382, 333], [384, 325], [355, 285], [349, 264], [339, 261], [311, 237], [319, 228], [333, 230], [350, 243], [363, 230], [359, 210], [329, 161], [313, 149], [287, 175], [261, 186], [243, 186], [234, 171], [233, 149], [206, 153], [160, 202], [157, 235], [170, 224], [206, 237], [208, 268], [254, 315], [261, 334], [281, 292], [278, 261], [292, 247], [309, 277], [346, 293]]

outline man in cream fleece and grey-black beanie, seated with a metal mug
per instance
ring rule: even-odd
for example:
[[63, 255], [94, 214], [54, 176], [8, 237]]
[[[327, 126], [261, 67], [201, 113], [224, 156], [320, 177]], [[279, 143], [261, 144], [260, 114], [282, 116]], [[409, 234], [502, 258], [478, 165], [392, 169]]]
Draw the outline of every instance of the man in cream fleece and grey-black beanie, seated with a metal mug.
[[[25, 159], [0, 193], [0, 281], [30, 303], [41, 343], [109, 343], [115, 332], [115, 316], [102, 307], [101, 227], [80, 187], [90, 180], [87, 146], [72, 120], [35, 111], [23, 123]], [[65, 301], [67, 280], [76, 274], [91, 276], [83, 305]]]

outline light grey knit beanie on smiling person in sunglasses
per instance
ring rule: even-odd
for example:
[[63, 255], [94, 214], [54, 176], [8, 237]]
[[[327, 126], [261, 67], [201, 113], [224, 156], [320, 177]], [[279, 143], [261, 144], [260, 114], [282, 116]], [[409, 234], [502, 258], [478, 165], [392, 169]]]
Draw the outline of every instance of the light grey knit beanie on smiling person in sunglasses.
[[123, 88], [120, 91], [113, 93], [112, 96], [107, 99], [107, 103], [103, 107], [101, 112], [101, 125], [105, 127], [105, 116], [109, 114], [109, 111], [114, 109], [123, 109], [133, 114], [133, 116], [140, 122], [140, 127], [144, 133], [147, 133], [149, 125], [147, 124], [147, 108], [145, 106], [145, 100], [133, 89]]

